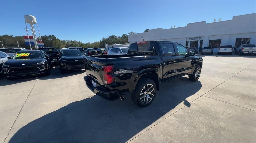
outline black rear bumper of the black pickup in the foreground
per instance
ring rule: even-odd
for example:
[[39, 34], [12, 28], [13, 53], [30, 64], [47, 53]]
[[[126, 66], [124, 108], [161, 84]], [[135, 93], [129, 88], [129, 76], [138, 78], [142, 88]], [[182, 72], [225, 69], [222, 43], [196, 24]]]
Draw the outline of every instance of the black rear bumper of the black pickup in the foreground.
[[117, 91], [117, 90], [107, 90], [102, 88], [97, 82], [97, 87], [94, 87], [92, 85], [92, 79], [89, 76], [85, 76], [84, 81], [87, 85], [87, 87], [94, 92], [95, 94], [99, 95], [100, 97], [107, 99], [109, 101], [115, 101], [118, 98], [124, 99], [123, 96]]

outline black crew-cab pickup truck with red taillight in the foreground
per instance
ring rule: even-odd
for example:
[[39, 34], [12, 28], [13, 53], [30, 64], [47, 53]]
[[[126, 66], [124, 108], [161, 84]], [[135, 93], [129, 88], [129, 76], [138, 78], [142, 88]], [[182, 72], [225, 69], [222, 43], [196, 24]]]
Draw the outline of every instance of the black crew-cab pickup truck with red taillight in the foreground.
[[87, 86], [110, 101], [131, 94], [132, 101], [150, 105], [159, 84], [185, 75], [197, 81], [203, 59], [172, 41], [141, 41], [130, 45], [127, 55], [86, 56]]

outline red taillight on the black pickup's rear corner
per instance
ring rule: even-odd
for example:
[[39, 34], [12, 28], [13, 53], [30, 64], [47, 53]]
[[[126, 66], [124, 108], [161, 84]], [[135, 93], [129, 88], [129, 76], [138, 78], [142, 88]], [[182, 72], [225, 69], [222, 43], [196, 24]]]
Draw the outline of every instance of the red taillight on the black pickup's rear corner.
[[115, 81], [114, 69], [114, 65], [103, 66], [103, 80], [105, 84], [111, 84]]

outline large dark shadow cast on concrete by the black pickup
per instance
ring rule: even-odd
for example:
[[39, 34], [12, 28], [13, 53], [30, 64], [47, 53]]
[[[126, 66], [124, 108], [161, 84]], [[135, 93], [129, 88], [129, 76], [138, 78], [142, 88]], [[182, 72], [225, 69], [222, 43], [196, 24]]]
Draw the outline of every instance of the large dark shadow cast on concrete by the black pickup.
[[[161, 84], [154, 102], [145, 108], [125, 100], [106, 101], [95, 95], [73, 102], [20, 128], [10, 142], [126, 142], [184, 106], [193, 92], [175, 87], [185, 82], [184, 88], [202, 87], [200, 81], [187, 77]], [[191, 101], [190, 101], [191, 102]], [[177, 107], [178, 106], [178, 107]], [[176, 108], [177, 107], [177, 108]], [[162, 118], [161, 118], [162, 117]]]

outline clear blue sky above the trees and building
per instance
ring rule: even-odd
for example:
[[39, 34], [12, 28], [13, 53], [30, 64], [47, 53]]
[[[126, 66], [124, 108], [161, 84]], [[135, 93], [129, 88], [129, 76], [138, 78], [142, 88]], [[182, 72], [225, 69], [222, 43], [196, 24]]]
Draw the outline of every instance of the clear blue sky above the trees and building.
[[231, 20], [233, 16], [255, 13], [255, 6], [256, 1], [1, 0], [0, 35], [26, 35], [24, 15], [33, 15], [41, 35], [94, 42], [131, 31], [182, 27], [199, 21], [210, 23], [219, 18]]

